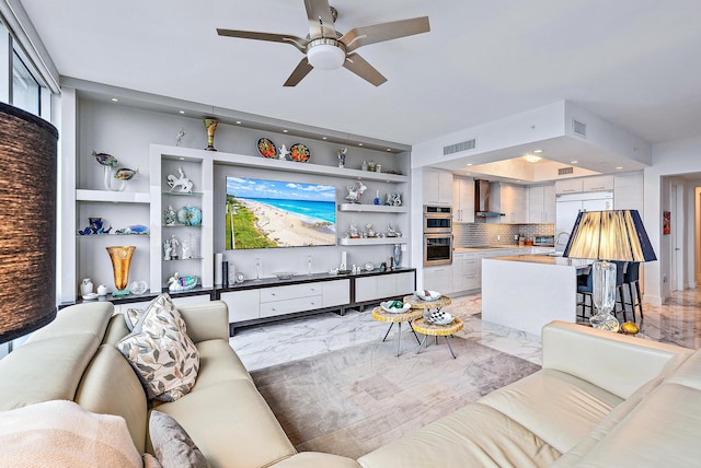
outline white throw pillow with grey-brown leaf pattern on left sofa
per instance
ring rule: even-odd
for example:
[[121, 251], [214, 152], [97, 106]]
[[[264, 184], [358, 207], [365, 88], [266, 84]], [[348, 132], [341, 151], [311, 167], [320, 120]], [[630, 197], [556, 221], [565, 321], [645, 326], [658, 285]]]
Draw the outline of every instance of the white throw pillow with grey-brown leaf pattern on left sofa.
[[150, 304], [117, 349], [136, 371], [149, 399], [174, 401], [195, 385], [199, 354], [168, 294]]

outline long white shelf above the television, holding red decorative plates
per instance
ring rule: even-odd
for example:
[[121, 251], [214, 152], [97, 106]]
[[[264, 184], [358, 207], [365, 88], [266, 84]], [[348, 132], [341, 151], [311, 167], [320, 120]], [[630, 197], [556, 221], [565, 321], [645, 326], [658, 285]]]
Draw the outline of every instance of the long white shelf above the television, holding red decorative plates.
[[[181, 157], [199, 157], [202, 154], [210, 156], [215, 164], [227, 164], [245, 167], [257, 167], [263, 169], [295, 172], [302, 174], [315, 174], [325, 176], [335, 176], [349, 179], [360, 180], [380, 180], [393, 184], [402, 184], [409, 182], [405, 175], [376, 173], [370, 171], [348, 169], [345, 167], [326, 166], [322, 164], [298, 163], [296, 161], [280, 161], [272, 157], [249, 156], [243, 154], [223, 153], [220, 151], [211, 152], [205, 150], [195, 150], [182, 147], [161, 147], [152, 145], [153, 150], [160, 152], [163, 157], [170, 160], [180, 160]], [[312, 155], [313, 157], [313, 155]]]

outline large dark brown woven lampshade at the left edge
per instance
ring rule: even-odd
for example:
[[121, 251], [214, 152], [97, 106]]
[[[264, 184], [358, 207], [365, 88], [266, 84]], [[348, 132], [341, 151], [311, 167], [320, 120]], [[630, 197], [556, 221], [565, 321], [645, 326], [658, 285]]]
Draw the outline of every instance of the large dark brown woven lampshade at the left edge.
[[56, 151], [46, 120], [0, 103], [0, 343], [56, 317]]

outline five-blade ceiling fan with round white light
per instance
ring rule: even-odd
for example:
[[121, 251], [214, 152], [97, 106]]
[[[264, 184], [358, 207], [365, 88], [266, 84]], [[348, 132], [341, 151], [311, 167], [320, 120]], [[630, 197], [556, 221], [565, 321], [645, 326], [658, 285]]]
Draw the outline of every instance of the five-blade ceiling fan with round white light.
[[376, 86], [384, 83], [384, 78], [356, 49], [368, 44], [412, 36], [430, 31], [428, 16], [411, 20], [392, 21], [370, 26], [355, 27], [345, 34], [334, 27], [336, 9], [329, 5], [329, 0], [304, 0], [309, 17], [309, 35], [297, 37], [289, 34], [256, 33], [217, 28], [220, 36], [240, 37], [243, 39], [286, 43], [306, 55], [285, 82], [285, 86], [295, 86], [314, 68], [334, 70], [341, 66], [350, 70]]

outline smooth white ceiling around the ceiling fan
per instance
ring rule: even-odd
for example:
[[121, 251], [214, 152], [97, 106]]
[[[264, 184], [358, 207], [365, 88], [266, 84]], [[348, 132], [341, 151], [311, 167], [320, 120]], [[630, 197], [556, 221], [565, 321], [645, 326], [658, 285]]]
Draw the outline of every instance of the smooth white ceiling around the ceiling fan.
[[699, 0], [335, 0], [336, 28], [428, 15], [432, 31], [283, 83], [302, 58], [217, 27], [304, 36], [302, 0], [21, 0], [60, 74], [415, 144], [567, 100], [648, 142], [701, 129]]

